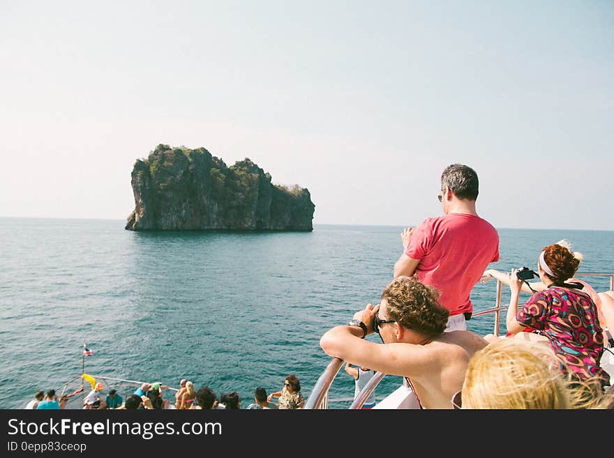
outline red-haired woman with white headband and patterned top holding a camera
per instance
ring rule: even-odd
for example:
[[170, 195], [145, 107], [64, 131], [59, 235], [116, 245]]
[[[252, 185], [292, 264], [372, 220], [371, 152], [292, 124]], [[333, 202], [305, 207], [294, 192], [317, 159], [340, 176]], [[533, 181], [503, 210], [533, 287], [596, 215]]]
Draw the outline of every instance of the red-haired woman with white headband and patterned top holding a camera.
[[507, 310], [507, 330], [515, 334], [524, 328], [538, 330], [548, 338], [551, 349], [562, 360], [563, 372], [580, 380], [600, 379], [609, 386], [610, 376], [599, 365], [604, 353], [604, 333], [599, 325], [597, 306], [581, 282], [574, 277], [582, 254], [571, 252], [569, 242], [560, 241], [541, 250], [537, 258], [539, 279], [546, 289], [534, 293], [518, 310], [523, 285], [516, 269], [511, 270], [511, 298]]

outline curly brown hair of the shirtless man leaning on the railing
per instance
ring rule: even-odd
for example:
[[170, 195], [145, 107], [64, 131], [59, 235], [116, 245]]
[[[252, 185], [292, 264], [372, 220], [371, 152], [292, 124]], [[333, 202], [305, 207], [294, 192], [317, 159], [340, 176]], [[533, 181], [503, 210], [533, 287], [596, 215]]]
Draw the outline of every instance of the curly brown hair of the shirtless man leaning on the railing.
[[450, 312], [439, 298], [439, 291], [421, 283], [416, 275], [398, 277], [382, 293], [391, 318], [405, 328], [428, 334], [443, 333], [447, 325]]

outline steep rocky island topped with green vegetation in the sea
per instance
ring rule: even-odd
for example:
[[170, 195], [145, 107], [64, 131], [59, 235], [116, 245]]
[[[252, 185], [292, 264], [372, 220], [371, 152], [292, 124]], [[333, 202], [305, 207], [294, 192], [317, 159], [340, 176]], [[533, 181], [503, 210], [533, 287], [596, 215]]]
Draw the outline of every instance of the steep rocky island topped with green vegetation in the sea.
[[309, 191], [271, 183], [251, 160], [227, 167], [205, 148], [160, 144], [132, 171], [134, 231], [313, 231]]

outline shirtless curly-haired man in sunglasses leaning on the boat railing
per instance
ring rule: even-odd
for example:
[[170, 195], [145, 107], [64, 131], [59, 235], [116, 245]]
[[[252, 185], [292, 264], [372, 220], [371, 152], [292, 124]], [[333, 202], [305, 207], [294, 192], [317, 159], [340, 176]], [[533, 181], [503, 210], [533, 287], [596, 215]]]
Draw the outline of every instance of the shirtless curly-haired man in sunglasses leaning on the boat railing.
[[[449, 311], [438, 298], [436, 289], [416, 277], [399, 277], [378, 305], [367, 304], [352, 324], [324, 333], [320, 346], [353, 365], [405, 377], [424, 409], [452, 409], [470, 358], [487, 342], [467, 330], [444, 333]], [[364, 339], [374, 332], [383, 344]]]

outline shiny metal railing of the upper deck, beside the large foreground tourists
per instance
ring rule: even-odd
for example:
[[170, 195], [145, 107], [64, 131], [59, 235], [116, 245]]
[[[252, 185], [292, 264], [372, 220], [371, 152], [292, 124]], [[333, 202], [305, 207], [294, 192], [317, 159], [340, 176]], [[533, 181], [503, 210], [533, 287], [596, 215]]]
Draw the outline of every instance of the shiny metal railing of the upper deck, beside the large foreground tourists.
[[[614, 273], [602, 273], [602, 272], [585, 272], [585, 273], [576, 273], [576, 277], [610, 277], [610, 290], [614, 290]], [[492, 277], [482, 277], [480, 282], [488, 282], [488, 280], [492, 280]], [[501, 305], [501, 297], [502, 297], [503, 283], [500, 280], [497, 280], [497, 292], [495, 293], [495, 307], [488, 310], [480, 310], [479, 312], [475, 312], [472, 315], [473, 318], [477, 318], [478, 316], [484, 316], [488, 314], [495, 314], [495, 323], [493, 328], [493, 334], [495, 336], [499, 336], [500, 327], [501, 327], [501, 312], [507, 310], [509, 305]], [[344, 361], [340, 358], [332, 358], [331, 362], [322, 375], [317, 379], [313, 390], [305, 402], [304, 409], [328, 409], [328, 392], [331, 387], [335, 377], [337, 376], [339, 369], [344, 364]], [[364, 388], [359, 392], [359, 395], [354, 399], [352, 404], [348, 409], [360, 409], [369, 395], [375, 390], [377, 385], [384, 379], [386, 374], [382, 374], [382, 372], [375, 372], [375, 375], [366, 383]]]

